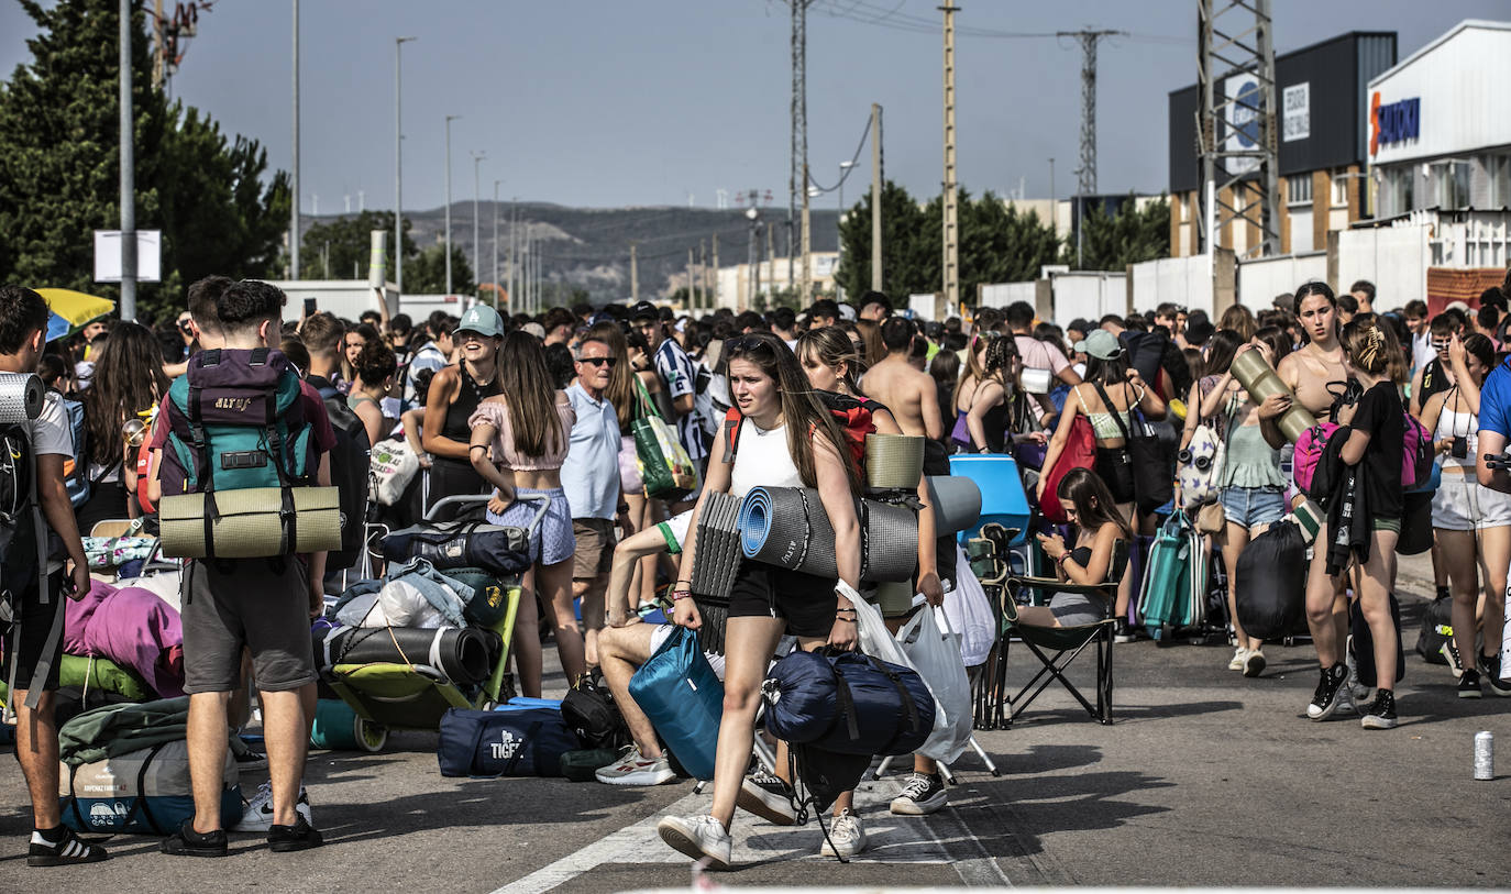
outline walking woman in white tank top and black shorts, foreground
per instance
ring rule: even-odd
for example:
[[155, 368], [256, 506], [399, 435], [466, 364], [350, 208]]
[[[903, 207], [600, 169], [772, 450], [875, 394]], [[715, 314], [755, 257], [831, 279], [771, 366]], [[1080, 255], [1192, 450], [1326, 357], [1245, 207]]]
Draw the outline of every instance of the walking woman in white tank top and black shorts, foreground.
[[[839, 580], [775, 565], [742, 560], [730, 593], [725, 628], [724, 719], [715, 758], [712, 812], [663, 817], [657, 832], [675, 850], [706, 859], [715, 868], [730, 865], [730, 825], [736, 802], [749, 803], [745, 770], [749, 764], [756, 711], [777, 642], [796, 636], [804, 649], [825, 645], [852, 649], [858, 642], [852, 600], [860, 584], [860, 471], [849, 461], [845, 435], [813, 394], [792, 350], [771, 332], [752, 332], [725, 343], [730, 359], [730, 397], [742, 423], [734, 461], [725, 462], [724, 438], [715, 438], [709, 473], [697, 512], [707, 495], [743, 497], [756, 486], [813, 488], [834, 530]], [[689, 598], [689, 580], [698, 551], [697, 526], [688, 532], [681, 572], [672, 589], [674, 621], [697, 630], [703, 619]], [[759, 802], [757, 802], [759, 806]], [[834, 823], [836, 847], [854, 852], [864, 843], [858, 820], [845, 812]]]

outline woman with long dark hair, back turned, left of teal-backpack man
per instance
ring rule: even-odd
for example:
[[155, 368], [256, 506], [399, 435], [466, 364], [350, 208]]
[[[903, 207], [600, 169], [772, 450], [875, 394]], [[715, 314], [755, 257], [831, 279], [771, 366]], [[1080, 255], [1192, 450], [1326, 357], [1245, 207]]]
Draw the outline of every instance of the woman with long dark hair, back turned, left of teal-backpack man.
[[[85, 474], [91, 482], [89, 501], [79, 507], [79, 532], [89, 536], [98, 521], [136, 518], [136, 449], [127, 429], [139, 432], [138, 414], [148, 411], [168, 394], [163, 350], [153, 331], [138, 323], [119, 322], [110, 329], [109, 346], [94, 358], [94, 382], [83, 393], [88, 456]], [[134, 435], [139, 438], [139, 435]]]

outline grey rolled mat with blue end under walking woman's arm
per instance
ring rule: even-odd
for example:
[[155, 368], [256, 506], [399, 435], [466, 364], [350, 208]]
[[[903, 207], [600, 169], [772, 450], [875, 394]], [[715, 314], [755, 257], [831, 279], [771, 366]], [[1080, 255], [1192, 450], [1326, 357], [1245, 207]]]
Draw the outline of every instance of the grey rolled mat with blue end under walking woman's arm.
[[[752, 488], [740, 504], [740, 550], [778, 568], [837, 577], [834, 529], [811, 488]], [[863, 581], [908, 580], [917, 565], [919, 523], [913, 510], [863, 500]]]

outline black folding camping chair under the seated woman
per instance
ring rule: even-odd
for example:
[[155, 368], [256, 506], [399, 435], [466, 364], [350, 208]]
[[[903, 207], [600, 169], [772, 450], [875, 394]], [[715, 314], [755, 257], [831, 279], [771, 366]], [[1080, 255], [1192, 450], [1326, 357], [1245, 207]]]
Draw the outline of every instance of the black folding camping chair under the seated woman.
[[[993, 536], [996, 532], [982, 530], [987, 541], [1003, 545], [1003, 536]], [[979, 553], [979, 550], [978, 550]], [[1115, 619], [1111, 607], [1117, 598], [1118, 581], [1127, 569], [1127, 542], [1117, 541], [1112, 553], [1112, 563], [1108, 577], [1098, 584], [1073, 584], [1050, 577], [1031, 577], [1012, 574], [1008, 563], [996, 556], [984, 556], [973, 562], [978, 575], [984, 571], [982, 583], [994, 586], [1000, 592], [996, 609], [1000, 612], [1002, 639], [987, 667], [984, 680], [978, 689], [976, 722], [978, 726], [1005, 728], [1011, 726], [1040, 693], [1052, 681], [1059, 681], [1070, 695], [1080, 702], [1091, 719], [1102, 723], [1112, 723], [1112, 631]], [[990, 583], [988, 583], [990, 581]], [[1095, 624], [1077, 627], [1037, 627], [1018, 621], [1020, 598], [1041, 593], [1044, 597], [1055, 592], [1073, 592], [1102, 597], [1109, 607], [1109, 616]], [[1014, 696], [1006, 695], [1008, 651], [1012, 639], [1018, 639], [1040, 660], [1040, 669]], [[1083, 652], [1086, 646], [1095, 646], [1097, 654], [1097, 701], [1095, 705], [1065, 677], [1070, 664]]]

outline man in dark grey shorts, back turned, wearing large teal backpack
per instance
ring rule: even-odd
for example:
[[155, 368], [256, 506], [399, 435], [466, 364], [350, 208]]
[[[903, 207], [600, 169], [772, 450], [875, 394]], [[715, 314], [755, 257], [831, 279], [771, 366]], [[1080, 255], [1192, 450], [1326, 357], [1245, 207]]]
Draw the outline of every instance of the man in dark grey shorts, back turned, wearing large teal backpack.
[[[215, 402], [215, 390], [236, 388], [234, 378], [246, 376], [248, 385], [261, 365], [278, 368], [283, 359], [277, 353], [263, 353], [280, 340], [284, 293], [255, 281], [230, 284], [216, 299], [216, 325], [219, 344], [190, 364], [187, 388], [175, 387], [165, 399], [159, 415], [184, 412], [180, 402], [184, 391], [189, 400]], [[201, 331], [205, 328], [201, 325]], [[213, 353], [218, 364], [216, 379], [198, 379], [201, 358]], [[284, 368], [283, 376], [298, 376]], [[218, 385], [218, 382], [231, 382]], [[201, 390], [209, 391], [193, 394]], [[280, 385], [283, 390], [283, 385]], [[192, 417], [190, 417], [192, 418]], [[292, 421], [290, 421], [292, 420]], [[304, 468], [293, 465], [295, 450], [269, 452], [258, 436], [254, 453], [261, 453], [267, 476], [277, 476], [275, 483], [305, 480], [328, 486], [331, 464], [328, 453], [335, 445], [325, 412], [325, 403], [308, 382], [298, 382], [298, 397], [289, 411], [280, 415], [280, 424], [289, 424], [289, 445], [308, 439]], [[221, 426], [230, 429], [225, 436], [234, 439], [234, 432], [249, 429], [252, 433], [270, 427], [263, 418], [248, 418], [245, 426]], [[308, 429], [308, 430], [305, 430]], [[213, 459], [225, 459], [224, 447], [212, 444], [181, 444], [163, 450], [174, 426], [162, 423], [154, 433], [153, 447], [165, 464], [162, 491], [189, 491], [189, 480], [174, 482], [169, 468], [177, 459], [178, 447], [212, 452], [196, 458], [195, 465], [209, 468]], [[157, 465], [157, 464], [154, 464]], [[218, 464], [224, 468], [224, 464]], [[283, 467], [283, 468], [280, 468]], [[299, 474], [304, 471], [305, 474]], [[310, 476], [308, 473], [314, 474]], [[180, 470], [180, 476], [184, 473]], [[212, 479], [213, 480], [213, 479]], [[257, 485], [260, 486], [260, 485]], [[319, 847], [320, 834], [308, 818], [296, 809], [299, 781], [304, 776], [304, 758], [310, 743], [310, 711], [314, 705], [314, 652], [310, 646], [310, 618], [323, 609], [322, 577], [325, 553], [310, 556], [275, 556], [267, 559], [202, 559], [192, 560], [184, 568], [183, 586], [183, 636], [184, 636], [184, 692], [189, 693], [189, 775], [193, 784], [195, 817], [162, 843], [162, 852], [175, 856], [225, 856], [227, 838], [221, 828], [222, 766], [225, 763], [228, 734], [228, 702], [242, 675], [242, 649], [251, 651], [257, 678], [258, 702], [263, 708], [263, 735], [267, 744], [267, 764], [272, 776], [272, 823], [267, 843], [273, 852], [305, 850]]]

